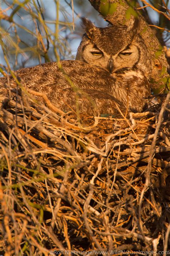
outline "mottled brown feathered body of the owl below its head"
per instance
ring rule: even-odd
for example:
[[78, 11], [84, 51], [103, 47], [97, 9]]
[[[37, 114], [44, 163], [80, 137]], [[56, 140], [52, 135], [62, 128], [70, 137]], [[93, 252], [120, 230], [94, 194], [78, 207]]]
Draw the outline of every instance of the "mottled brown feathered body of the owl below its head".
[[[61, 68], [56, 62], [45, 63], [19, 69], [15, 74], [21, 83], [43, 92], [53, 104], [65, 111], [70, 110], [69, 105], [76, 109], [78, 95], [81, 113], [91, 114], [98, 109], [100, 113], [115, 114], [118, 108], [126, 112], [127, 104], [129, 111], [141, 112], [150, 95], [148, 81], [141, 73], [110, 75], [79, 60], [63, 60]], [[9, 81], [11, 86], [16, 86], [11, 76]], [[0, 86], [4, 84], [8, 85], [7, 77], [0, 78]], [[2, 87], [0, 91], [4, 94]]]

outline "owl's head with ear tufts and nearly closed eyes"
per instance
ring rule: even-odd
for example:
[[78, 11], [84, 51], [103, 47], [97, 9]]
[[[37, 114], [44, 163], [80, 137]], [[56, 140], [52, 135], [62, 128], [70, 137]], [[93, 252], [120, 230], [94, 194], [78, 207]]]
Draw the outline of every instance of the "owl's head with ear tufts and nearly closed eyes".
[[128, 26], [95, 27], [86, 18], [82, 19], [85, 34], [77, 50], [76, 60], [98, 66], [110, 73], [121, 73], [140, 68], [147, 75], [148, 50], [138, 34], [138, 19]]

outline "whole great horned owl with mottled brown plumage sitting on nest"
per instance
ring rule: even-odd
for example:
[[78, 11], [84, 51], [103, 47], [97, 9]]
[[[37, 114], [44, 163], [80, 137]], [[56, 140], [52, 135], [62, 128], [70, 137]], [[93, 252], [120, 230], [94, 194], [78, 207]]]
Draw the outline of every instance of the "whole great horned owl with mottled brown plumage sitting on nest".
[[[86, 35], [77, 52], [78, 60], [63, 60], [62, 68], [51, 62], [19, 69], [16, 75], [20, 82], [44, 92], [64, 111], [76, 110], [76, 102], [81, 113], [89, 114], [94, 113], [94, 106], [108, 114], [117, 113], [118, 108], [123, 113], [126, 109], [146, 109], [150, 96], [147, 50], [135, 22], [131, 27], [107, 28], [96, 28], [87, 19], [83, 22]], [[15, 86], [14, 79], [9, 78], [10, 85]], [[8, 84], [6, 77], [0, 78], [3, 84]]]

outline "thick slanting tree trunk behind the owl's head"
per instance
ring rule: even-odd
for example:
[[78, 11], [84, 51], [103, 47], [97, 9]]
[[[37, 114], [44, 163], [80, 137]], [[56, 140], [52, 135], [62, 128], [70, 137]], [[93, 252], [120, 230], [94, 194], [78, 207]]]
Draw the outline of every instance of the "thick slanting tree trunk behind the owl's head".
[[134, 17], [139, 18], [139, 33], [145, 41], [152, 59], [151, 87], [156, 89], [165, 85], [169, 77], [165, 52], [155, 32], [148, 26], [138, 10], [128, 4], [126, 0], [89, 0], [89, 2], [112, 25], [128, 24]]

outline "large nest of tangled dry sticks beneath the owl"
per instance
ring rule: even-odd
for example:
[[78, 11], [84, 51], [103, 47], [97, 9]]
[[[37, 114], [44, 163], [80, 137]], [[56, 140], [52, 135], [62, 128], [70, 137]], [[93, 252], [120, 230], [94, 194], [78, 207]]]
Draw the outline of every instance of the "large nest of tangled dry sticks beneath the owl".
[[1, 96], [0, 254], [167, 251], [169, 98], [130, 118], [77, 118]]

